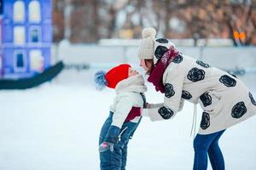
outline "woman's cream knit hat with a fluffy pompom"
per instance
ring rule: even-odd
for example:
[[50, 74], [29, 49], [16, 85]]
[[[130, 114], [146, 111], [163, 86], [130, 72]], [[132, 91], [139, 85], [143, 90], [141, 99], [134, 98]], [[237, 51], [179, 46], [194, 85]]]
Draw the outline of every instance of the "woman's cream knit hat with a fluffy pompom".
[[143, 40], [138, 47], [139, 59], [153, 59], [154, 58], [154, 38], [156, 31], [152, 27], [143, 30]]

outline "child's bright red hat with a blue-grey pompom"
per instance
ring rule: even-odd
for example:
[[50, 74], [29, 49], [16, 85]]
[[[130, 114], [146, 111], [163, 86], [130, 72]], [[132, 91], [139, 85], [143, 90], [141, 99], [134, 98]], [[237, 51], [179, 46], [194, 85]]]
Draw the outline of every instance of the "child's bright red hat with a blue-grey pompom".
[[115, 88], [116, 85], [128, 78], [128, 71], [131, 65], [122, 64], [113, 67], [107, 73], [105, 71], [97, 71], [95, 74], [96, 88], [102, 90], [106, 86], [108, 88]]

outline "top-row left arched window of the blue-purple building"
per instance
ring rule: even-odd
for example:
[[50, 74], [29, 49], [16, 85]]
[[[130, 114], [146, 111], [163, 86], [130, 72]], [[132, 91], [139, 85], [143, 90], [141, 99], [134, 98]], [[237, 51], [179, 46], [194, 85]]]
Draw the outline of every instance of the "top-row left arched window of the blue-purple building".
[[25, 5], [22, 1], [16, 1], [14, 4], [14, 20], [15, 22], [24, 22]]

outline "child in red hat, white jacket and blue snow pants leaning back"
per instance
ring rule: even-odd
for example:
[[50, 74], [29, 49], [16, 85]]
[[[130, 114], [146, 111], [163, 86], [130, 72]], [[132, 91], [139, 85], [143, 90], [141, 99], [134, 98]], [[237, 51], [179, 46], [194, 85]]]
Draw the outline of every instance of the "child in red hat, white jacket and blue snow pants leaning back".
[[96, 87], [114, 88], [116, 97], [100, 134], [100, 160], [102, 170], [125, 170], [127, 144], [141, 121], [146, 105], [143, 93], [147, 90], [143, 76], [131, 65], [118, 65], [95, 75]]

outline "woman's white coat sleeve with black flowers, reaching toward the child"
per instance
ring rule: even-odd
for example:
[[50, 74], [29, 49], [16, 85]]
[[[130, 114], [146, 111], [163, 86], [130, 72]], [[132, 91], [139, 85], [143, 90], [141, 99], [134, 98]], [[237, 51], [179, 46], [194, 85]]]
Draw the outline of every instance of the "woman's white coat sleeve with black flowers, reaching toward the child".
[[165, 78], [165, 98], [163, 105], [148, 109], [148, 116], [151, 121], [166, 120], [174, 117], [177, 111], [183, 108], [183, 99], [181, 99], [183, 91], [183, 72], [178, 72], [175, 68], [169, 71]]

